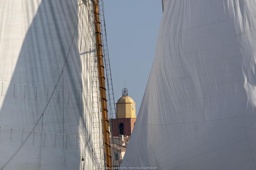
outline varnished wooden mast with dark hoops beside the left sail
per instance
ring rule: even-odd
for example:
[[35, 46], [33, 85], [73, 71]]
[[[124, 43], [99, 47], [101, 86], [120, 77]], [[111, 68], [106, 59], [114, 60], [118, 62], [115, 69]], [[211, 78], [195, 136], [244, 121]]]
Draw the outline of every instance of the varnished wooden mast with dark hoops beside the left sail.
[[101, 30], [100, 30], [100, 12], [99, 12], [99, 0], [92, 0], [93, 16], [94, 16], [94, 27], [96, 37], [96, 50], [98, 60], [98, 72], [100, 79], [100, 98], [102, 108], [102, 123], [104, 131], [104, 142], [105, 142], [105, 153], [107, 167], [112, 167], [111, 162], [111, 151], [110, 151], [110, 140], [109, 140], [109, 122], [108, 122], [108, 110], [107, 110], [107, 96], [106, 96], [106, 85], [105, 85], [105, 74], [104, 74], [104, 63], [102, 53], [102, 41], [101, 41]]

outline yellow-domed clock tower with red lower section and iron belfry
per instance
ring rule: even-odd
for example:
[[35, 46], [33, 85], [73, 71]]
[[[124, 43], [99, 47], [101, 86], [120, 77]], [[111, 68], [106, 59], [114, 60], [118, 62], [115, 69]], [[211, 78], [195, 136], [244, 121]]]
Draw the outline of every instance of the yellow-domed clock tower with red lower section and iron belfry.
[[131, 136], [136, 121], [135, 102], [123, 89], [122, 97], [116, 103], [116, 119], [112, 119], [112, 136]]

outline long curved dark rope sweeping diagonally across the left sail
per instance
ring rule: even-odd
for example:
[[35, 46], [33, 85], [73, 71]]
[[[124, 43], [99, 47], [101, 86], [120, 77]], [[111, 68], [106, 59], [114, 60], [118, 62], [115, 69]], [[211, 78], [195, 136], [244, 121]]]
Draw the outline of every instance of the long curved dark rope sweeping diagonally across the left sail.
[[[76, 34], [76, 28], [77, 28], [77, 25], [78, 25], [78, 21], [79, 21], [79, 18], [80, 18], [80, 14], [81, 14], [81, 9], [80, 9], [80, 12], [79, 12], [79, 15], [78, 15], [78, 19], [77, 19], [77, 23], [76, 23], [76, 27], [75, 27], [75, 32], [74, 32], [74, 35], [73, 35], [73, 38], [72, 38], [72, 41], [71, 41], [71, 44], [70, 44], [70, 48], [69, 48], [69, 50], [68, 50], [68, 55], [67, 55], [67, 58], [66, 58], [66, 60], [65, 60], [64, 66], [63, 66], [63, 68], [62, 68], [62, 70], [61, 70], [61, 73], [62, 73], [62, 71], [64, 70], [65, 65], [66, 65], [66, 63], [67, 63], [67, 61], [68, 61], [68, 56], [69, 56], [69, 53], [70, 53], [70, 50], [71, 50], [71, 47], [72, 47], [72, 44], [73, 44], [73, 40], [74, 40], [74, 37], [75, 37], [75, 34]], [[60, 74], [60, 77], [61, 77], [61, 74]], [[30, 135], [32, 134], [32, 132], [35, 130], [36, 125], [38, 124], [38, 122], [40, 121], [40, 119], [43, 117], [44, 112], [45, 112], [47, 106], [49, 105], [50, 100], [52, 99], [53, 93], [54, 93], [54, 91], [55, 91], [55, 89], [56, 89], [56, 87], [57, 87], [57, 85], [58, 85], [58, 83], [59, 83], [59, 81], [60, 81], [60, 77], [58, 78], [58, 81], [57, 81], [57, 83], [56, 83], [56, 85], [55, 85], [55, 87], [54, 87], [54, 89], [53, 89], [52, 95], [51, 95], [50, 99], [48, 100], [48, 102], [47, 102], [47, 104], [46, 104], [46, 106], [45, 106], [45, 108], [44, 108], [44, 111], [43, 111], [43, 113], [41, 114], [41, 116], [39, 117], [38, 121], [36, 122], [34, 128], [33, 128], [32, 131], [29, 133], [29, 135], [27, 136], [27, 138], [25, 139], [25, 141], [24, 141], [24, 142], [20, 145], [20, 147], [17, 149], [17, 151], [16, 151], [16, 152], [11, 156], [11, 158], [1, 167], [0, 170], [3, 170], [3, 168], [4, 168], [4, 167], [12, 160], [12, 158], [20, 151], [21, 147], [25, 144], [25, 142], [28, 140], [28, 138], [30, 137]]]

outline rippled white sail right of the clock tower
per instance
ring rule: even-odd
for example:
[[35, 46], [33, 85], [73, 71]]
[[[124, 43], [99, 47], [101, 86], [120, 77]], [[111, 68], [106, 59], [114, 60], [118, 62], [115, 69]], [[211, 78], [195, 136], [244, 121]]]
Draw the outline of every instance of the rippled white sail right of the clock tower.
[[167, 1], [122, 166], [256, 165], [256, 1]]

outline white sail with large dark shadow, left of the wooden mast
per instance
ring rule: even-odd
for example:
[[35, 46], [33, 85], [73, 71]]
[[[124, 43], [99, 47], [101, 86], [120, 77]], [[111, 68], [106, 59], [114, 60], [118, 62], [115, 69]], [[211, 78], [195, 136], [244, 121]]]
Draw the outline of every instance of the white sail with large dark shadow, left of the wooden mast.
[[103, 166], [90, 3], [0, 1], [0, 169]]

